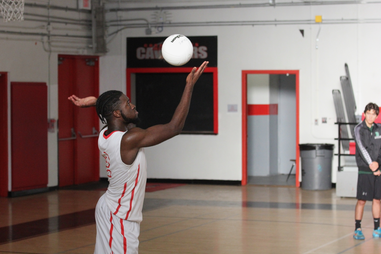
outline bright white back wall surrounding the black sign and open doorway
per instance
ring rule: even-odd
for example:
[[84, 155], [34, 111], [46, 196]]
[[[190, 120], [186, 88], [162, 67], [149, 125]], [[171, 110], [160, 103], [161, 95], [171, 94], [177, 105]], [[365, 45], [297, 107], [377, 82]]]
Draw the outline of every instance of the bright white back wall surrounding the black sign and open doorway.
[[[159, 2], [160, 3], [160, 2]], [[187, 2], [189, 3], [189, 2]], [[213, 3], [216, 3], [213, 2]], [[221, 1], [220, 3], [224, 3]], [[189, 3], [191, 4], [191, 3]], [[160, 4], [131, 3], [121, 7]], [[170, 3], [162, 3], [170, 5]], [[380, 4], [322, 5], [208, 10], [170, 10], [171, 22], [244, 21], [244, 20], [314, 20], [380, 18]], [[122, 18], [146, 18], [153, 11], [118, 13]], [[115, 19], [116, 14], [107, 14]], [[114, 15], [114, 16], [112, 16]], [[299, 140], [300, 143], [334, 143], [337, 133], [332, 89], [340, 89], [339, 77], [349, 64], [355, 98], [360, 111], [368, 103], [380, 103], [377, 71], [381, 35], [380, 24], [321, 24], [319, 48], [315, 48], [319, 24], [272, 26], [164, 27], [151, 36], [218, 36], [219, 134], [216, 136], [180, 135], [156, 147], [147, 148], [148, 177], [202, 178], [240, 180], [242, 178], [241, 109], [227, 114], [226, 104], [241, 104], [242, 70], [299, 70]], [[302, 37], [299, 29], [304, 29]], [[111, 31], [111, 30], [110, 30]], [[118, 35], [119, 36], [119, 35]], [[126, 29], [120, 40], [108, 45], [111, 55], [122, 55], [120, 63], [107, 68], [125, 72], [126, 37], [143, 37], [143, 28]], [[105, 58], [108, 58], [106, 56]], [[116, 81], [115, 81], [116, 82]], [[125, 80], [123, 80], [125, 83]], [[123, 84], [125, 85], [125, 84]], [[366, 91], [372, 90], [371, 95]], [[322, 124], [321, 118], [328, 123]], [[314, 125], [318, 119], [318, 125]], [[336, 181], [334, 160], [333, 182]]]

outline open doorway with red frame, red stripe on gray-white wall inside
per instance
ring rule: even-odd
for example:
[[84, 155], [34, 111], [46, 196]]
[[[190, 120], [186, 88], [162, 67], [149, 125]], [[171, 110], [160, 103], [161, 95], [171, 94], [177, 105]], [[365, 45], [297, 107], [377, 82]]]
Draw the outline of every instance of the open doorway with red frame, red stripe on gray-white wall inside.
[[298, 101], [299, 71], [242, 71], [242, 185], [299, 186]]

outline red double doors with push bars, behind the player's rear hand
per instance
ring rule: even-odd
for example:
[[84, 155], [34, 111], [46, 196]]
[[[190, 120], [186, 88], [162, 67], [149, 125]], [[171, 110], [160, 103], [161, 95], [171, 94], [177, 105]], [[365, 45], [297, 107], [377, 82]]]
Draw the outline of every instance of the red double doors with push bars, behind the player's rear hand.
[[94, 107], [78, 108], [67, 97], [99, 94], [98, 56], [59, 55], [59, 186], [99, 180], [99, 119]]

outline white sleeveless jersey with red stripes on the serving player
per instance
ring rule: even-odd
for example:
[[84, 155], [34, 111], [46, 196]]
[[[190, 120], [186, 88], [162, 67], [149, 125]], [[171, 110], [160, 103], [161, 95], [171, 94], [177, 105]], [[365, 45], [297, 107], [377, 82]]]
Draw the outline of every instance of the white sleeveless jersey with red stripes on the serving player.
[[123, 163], [120, 156], [120, 141], [124, 133], [99, 133], [98, 147], [106, 160], [109, 187], [106, 203], [111, 212], [123, 220], [142, 221], [142, 207], [147, 180], [147, 163], [144, 148], [140, 148], [131, 165]]

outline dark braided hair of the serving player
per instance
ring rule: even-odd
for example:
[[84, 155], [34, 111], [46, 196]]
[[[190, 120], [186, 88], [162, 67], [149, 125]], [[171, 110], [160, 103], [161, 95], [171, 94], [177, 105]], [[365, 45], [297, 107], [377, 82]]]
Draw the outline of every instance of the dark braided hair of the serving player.
[[96, 113], [102, 123], [106, 124], [107, 119], [112, 115], [115, 110], [119, 109], [120, 96], [123, 93], [116, 90], [110, 90], [102, 93], [96, 101]]

